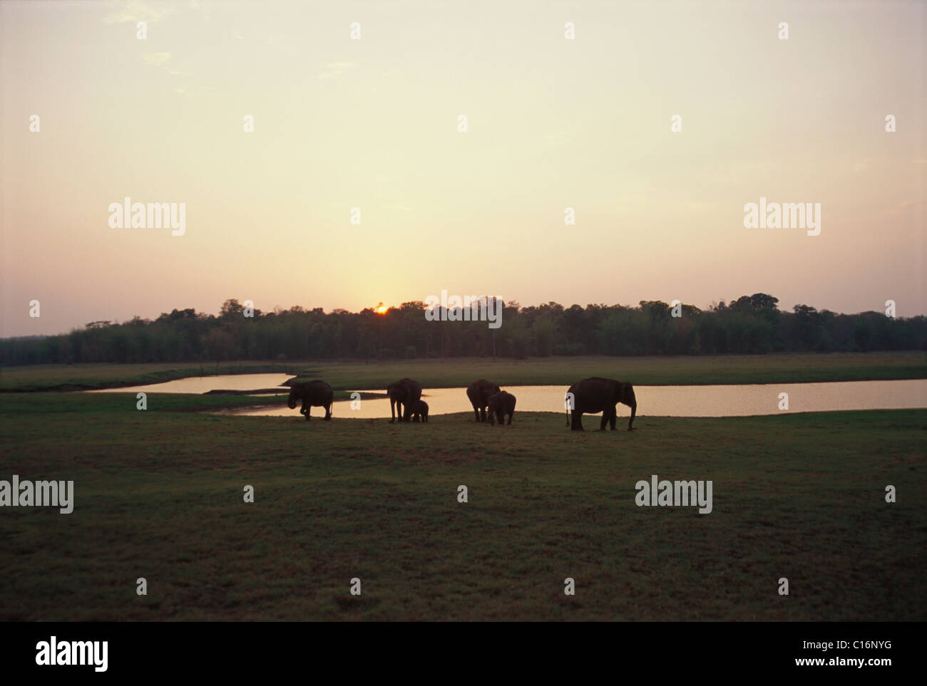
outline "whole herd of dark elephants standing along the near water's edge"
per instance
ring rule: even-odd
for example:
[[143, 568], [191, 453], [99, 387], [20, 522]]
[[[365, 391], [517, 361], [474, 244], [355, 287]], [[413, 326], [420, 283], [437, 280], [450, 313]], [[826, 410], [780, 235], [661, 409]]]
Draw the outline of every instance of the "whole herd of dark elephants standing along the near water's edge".
[[[515, 396], [502, 391], [491, 381], [480, 379], [467, 386], [467, 398], [473, 405], [476, 421], [487, 421], [490, 425], [512, 423], [515, 412]], [[324, 407], [325, 419], [332, 418], [332, 405], [335, 393], [332, 387], [321, 380], [294, 383], [290, 387], [289, 398], [286, 404], [295, 409], [298, 402], [302, 402], [299, 413], [305, 415], [309, 421], [311, 407]], [[389, 397], [390, 423], [399, 418], [400, 422], [428, 421], [428, 404], [422, 400], [422, 384], [412, 379], [400, 379], [387, 386]], [[577, 381], [570, 386], [565, 396], [566, 425], [571, 430], [581, 431], [583, 414], [602, 413], [602, 422], [599, 430], [609, 426], [615, 430], [617, 422], [617, 404], [628, 405], [631, 408], [631, 417], [628, 420], [628, 430], [632, 429], [634, 417], [637, 415], [637, 399], [634, 396], [634, 387], [625, 381], [591, 377]]]

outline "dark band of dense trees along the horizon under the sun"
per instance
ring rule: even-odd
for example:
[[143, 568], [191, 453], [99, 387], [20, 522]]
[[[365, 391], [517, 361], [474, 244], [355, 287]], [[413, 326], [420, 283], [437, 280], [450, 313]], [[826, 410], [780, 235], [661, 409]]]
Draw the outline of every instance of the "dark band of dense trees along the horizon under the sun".
[[493, 355], [699, 355], [777, 351], [927, 350], [927, 318], [879, 312], [840, 315], [798, 305], [782, 312], [766, 293], [706, 310], [659, 301], [637, 307], [557, 303], [507, 304], [502, 327], [485, 321], [427, 321], [425, 305], [403, 303], [385, 314], [321, 307], [261, 312], [237, 300], [218, 317], [172, 310], [154, 321], [95, 321], [83, 330], [0, 341], [0, 363], [180, 362], [231, 359]]

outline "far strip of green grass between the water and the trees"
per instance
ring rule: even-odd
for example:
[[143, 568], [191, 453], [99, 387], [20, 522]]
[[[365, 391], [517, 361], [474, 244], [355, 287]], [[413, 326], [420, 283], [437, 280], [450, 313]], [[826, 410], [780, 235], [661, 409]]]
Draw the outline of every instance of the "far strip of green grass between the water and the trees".
[[467, 386], [486, 378], [503, 386], [563, 384], [590, 376], [635, 384], [793, 383], [927, 378], [927, 353], [831, 353], [643, 357], [416, 359], [397, 362], [233, 362], [216, 365], [35, 365], [0, 368], [0, 391], [118, 388], [189, 376], [286, 372], [324, 379], [336, 390], [386, 388], [411, 377], [425, 388]]

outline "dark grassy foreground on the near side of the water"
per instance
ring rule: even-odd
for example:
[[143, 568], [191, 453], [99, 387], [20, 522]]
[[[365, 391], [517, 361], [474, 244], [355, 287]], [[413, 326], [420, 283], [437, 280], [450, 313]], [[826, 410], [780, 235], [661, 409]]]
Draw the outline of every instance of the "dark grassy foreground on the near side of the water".
[[[140, 412], [132, 394], [0, 394], [0, 479], [76, 489], [70, 515], [0, 511], [0, 619], [927, 619], [927, 410], [583, 434], [546, 413], [191, 411], [224, 402], [241, 398], [152, 394]], [[713, 480], [714, 511], [636, 506], [651, 474]]]

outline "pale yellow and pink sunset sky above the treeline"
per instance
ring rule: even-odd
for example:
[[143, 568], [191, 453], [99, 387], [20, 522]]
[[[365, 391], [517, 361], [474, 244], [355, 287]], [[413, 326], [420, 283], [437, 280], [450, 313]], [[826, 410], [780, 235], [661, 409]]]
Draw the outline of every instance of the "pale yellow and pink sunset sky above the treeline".
[[[0, 336], [442, 289], [923, 315], [925, 27], [921, 2], [6, 0]], [[127, 196], [184, 203], [184, 234], [110, 226]], [[819, 203], [819, 235], [746, 228], [760, 197]]]

